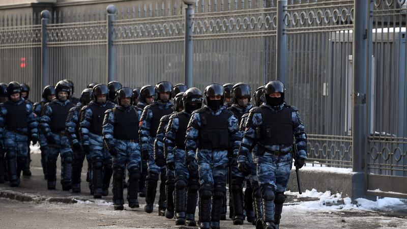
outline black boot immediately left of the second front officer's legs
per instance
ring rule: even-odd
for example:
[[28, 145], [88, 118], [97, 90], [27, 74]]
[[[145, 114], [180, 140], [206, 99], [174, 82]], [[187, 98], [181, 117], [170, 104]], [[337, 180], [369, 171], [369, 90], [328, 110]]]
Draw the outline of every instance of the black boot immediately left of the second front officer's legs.
[[199, 178], [190, 177], [187, 184], [186, 225], [196, 226], [195, 210], [198, 200]]

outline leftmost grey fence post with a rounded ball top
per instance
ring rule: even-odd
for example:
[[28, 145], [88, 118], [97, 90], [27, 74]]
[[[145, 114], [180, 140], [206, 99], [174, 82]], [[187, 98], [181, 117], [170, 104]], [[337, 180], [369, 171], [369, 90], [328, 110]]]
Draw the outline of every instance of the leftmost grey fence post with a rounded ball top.
[[51, 14], [48, 10], [41, 11], [41, 90], [49, 84], [49, 52], [47, 47], [47, 24]]

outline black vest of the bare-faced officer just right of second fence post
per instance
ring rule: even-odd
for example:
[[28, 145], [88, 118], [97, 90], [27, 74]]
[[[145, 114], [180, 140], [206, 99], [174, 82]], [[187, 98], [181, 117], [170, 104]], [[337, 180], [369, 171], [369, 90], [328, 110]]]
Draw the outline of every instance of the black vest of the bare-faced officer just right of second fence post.
[[134, 140], [138, 142], [138, 113], [134, 107], [130, 112], [113, 108], [113, 137], [119, 140]]

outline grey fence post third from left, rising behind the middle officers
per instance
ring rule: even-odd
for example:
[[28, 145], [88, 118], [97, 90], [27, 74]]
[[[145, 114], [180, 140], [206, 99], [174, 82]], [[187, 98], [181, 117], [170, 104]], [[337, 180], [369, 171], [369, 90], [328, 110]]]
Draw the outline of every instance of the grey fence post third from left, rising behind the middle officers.
[[184, 39], [184, 83], [192, 88], [194, 45], [192, 39], [194, 5], [196, 0], [184, 0], [185, 8], [185, 39]]

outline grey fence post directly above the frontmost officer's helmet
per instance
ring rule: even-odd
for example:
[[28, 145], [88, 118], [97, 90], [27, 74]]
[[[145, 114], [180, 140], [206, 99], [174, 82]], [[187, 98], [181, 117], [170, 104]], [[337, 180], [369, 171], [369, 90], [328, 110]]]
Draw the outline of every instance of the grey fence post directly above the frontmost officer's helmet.
[[277, 35], [276, 35], [276, 76], [284, 84], [287, 83], [287, 0], [277, 1]]

